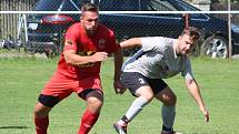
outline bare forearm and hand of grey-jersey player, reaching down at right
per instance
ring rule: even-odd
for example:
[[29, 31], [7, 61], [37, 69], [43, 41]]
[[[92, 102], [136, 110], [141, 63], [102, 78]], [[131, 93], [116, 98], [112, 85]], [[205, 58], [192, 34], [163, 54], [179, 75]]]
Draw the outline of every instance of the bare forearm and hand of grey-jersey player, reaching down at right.
[[187, 80], [186, 79], [186, 85], [190, 92], [190, 94], [193, 96], [195, 101], [197, 102], [200, 111], [205, 115], [206, 122], [209, 122], [209, 112], [203, 103], [203, 100], [201, 97], [200, 89], [198, 86], [198, 83], [196, 82], [195, 79]]

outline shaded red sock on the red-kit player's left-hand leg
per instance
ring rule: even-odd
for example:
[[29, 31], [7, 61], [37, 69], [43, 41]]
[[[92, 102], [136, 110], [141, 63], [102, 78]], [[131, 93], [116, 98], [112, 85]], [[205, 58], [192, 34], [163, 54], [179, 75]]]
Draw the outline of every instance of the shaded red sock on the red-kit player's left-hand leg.
[[37, 134], [47, 134], [49, 118], [46, 117], [34, 117], [34, 125]]

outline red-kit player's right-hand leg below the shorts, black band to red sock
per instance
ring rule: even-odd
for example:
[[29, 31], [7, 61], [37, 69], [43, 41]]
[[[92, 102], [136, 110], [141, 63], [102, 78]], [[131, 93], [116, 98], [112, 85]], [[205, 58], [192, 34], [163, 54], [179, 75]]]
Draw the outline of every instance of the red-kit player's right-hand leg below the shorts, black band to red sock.
[[79, 94], [87, 102], [87, 110], [81, 117], [78, 134], [88, 134], [96, 124], [101, 106], [103, 104], [103, 93], [101, 90], [84, 90]]

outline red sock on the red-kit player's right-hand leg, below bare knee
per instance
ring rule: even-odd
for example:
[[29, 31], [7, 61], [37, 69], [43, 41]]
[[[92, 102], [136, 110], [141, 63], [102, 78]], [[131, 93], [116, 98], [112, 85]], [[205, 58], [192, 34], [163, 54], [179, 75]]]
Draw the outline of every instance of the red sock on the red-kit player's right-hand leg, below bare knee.
[[94, 114], [87, 109], [81, 117], [81, 125], [78, 134], [88, 134], [99, 117], [99, 113]]

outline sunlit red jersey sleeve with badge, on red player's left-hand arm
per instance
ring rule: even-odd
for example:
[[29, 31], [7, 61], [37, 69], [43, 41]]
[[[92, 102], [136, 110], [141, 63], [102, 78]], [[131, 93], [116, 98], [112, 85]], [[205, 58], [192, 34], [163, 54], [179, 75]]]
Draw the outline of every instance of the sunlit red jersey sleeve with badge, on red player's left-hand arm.
[[77, 51], [77, 37], [80, 35], [73, 27], [70, 27], [64, 35], [63, 51], [74, 50]]

